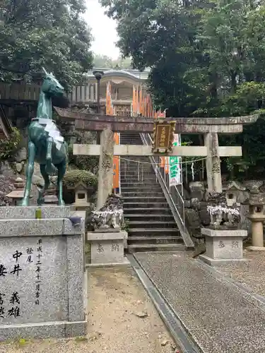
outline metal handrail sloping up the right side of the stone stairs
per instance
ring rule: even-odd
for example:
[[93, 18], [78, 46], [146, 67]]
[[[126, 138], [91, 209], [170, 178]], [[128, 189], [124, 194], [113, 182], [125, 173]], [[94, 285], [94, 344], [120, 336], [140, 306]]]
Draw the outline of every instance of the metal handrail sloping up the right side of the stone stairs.
[[[141, 140], [144, 145], [152, 145], [153, 141], [149, 133], [141, 133]], [[156, 160], [154, 156], [149, 157], [153, 165], [155, 175], [162, 187], [167, 203], [172, 210], [172, 215], [175, 218], [175, 222], [179, 227], [179, 232], [182, 234], [182, 238], [188, 248], [194, 247], [192, 238], [189, 236], [189, 232], [185, 225], [185, 208], [184, 199], [181, 193], [177, 189], [177, 186], [170, 186], [170, 179], [168, 174], [165, 173], [165, 169], [159, 166], [160, 157], [157, 156]]]

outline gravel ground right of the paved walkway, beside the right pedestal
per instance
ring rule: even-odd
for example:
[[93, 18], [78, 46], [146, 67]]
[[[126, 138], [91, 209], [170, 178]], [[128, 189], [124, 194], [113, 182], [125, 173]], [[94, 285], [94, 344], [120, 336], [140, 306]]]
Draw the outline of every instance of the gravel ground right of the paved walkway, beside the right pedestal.
[[244, 250], [244, 258], [248, 262], [224, 265], [218, 270], [265, 297], [265, 252]]

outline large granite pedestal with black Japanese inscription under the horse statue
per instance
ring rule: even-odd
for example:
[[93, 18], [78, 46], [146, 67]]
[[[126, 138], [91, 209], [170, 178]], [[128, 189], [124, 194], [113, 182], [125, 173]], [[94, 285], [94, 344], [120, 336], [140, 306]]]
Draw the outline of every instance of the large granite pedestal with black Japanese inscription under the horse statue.
[[0, 208], [0, 340], [86, 335], [84, 222], [36, 209]]

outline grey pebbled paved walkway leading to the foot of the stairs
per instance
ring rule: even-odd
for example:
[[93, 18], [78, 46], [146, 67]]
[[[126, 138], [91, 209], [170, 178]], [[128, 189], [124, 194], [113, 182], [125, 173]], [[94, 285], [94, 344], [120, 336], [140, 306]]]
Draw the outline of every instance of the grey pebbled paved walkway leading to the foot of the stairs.
[[139, 261], [205, 353], [264, 353], [265, 305], [187, 253], [137, 253]]

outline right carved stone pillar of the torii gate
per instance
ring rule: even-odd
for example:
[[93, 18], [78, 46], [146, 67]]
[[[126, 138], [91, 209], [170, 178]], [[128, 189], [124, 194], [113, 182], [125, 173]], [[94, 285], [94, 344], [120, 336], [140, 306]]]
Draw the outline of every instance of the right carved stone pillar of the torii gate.
[[204, 143], [207, 148], [206, 172], [208, 191], [210, 193], [221, 193], [223, 189], [220, 172], [218, 133], [206, 133]]

